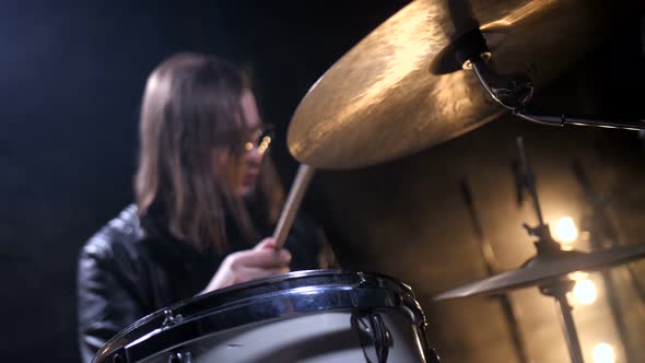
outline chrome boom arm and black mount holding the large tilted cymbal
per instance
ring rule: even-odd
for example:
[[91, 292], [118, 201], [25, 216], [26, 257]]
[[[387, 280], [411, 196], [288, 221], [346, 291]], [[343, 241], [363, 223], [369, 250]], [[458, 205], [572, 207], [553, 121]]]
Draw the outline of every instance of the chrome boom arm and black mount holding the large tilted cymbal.
[[493, 99], [524, 120], [550, 126], [577, 125], [645, 130], [645, 120], [615, 121], [573, 118], [564, 115], [533, 115], [527, 110], [535, 92], [532, 82], [523, 73], [499, 74], [493, 71], [486, 65], [492, 54], [479, 28], [461, 35], [452, 44], [452, 47], [461, 68], [471, 69]]

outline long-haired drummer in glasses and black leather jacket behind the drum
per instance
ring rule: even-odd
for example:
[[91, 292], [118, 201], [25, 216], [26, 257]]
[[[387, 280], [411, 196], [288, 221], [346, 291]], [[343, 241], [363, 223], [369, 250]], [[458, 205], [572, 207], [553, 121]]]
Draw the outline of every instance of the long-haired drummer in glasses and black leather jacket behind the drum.
[[179, 54], [152, 72], [141, 109], [137, 202], [79, 258], [84, 361], [130, 324], [180, 300], [328, 266], [328, 246], [303, 215], [285, 248], [266, 238], [283, 202], [267, 157], [271, 140], [246, 78], [228, 62]]

